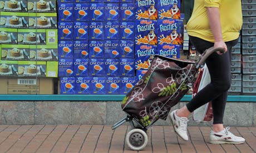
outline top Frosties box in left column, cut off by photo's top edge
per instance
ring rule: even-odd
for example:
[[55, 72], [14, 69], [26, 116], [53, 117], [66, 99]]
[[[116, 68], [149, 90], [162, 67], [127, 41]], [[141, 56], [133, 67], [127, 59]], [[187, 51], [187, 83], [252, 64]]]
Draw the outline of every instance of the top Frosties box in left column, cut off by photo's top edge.
[[136, 19], [157, 19], [156, 0], [135, 0]]

